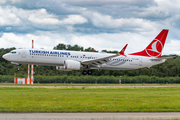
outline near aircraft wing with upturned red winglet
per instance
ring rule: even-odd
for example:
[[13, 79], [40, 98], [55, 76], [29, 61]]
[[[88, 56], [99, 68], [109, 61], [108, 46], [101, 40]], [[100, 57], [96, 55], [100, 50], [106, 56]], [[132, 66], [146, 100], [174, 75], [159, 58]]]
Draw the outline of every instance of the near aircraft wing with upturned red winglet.
[[81, 61], [81, 64], [99, 68], [102, 64], [107, 63], [108, 61], [110, 61], [111, 58], [114, 58], [114, 57], [117, 57], [117, 56], [120, 56], [120, 55], [126, 56], [126, 55], [124, 55], [124, 51], [126, 50], [127, 45], [128, 44], [126, 44], [124, 46], [124, 48], [118, 54], [107, 56], [107, 57], [102, 57], [102, 58], [98, 58], [98, 59], [83, 60], [83, 61]]

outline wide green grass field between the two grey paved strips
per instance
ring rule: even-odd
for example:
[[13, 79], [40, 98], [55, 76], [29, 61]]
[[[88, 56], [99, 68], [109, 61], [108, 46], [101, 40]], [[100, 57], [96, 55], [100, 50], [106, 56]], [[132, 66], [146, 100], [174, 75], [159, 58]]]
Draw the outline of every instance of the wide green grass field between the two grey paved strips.
[[179, 87], [0, 87], [0, 112], [180, 111]]

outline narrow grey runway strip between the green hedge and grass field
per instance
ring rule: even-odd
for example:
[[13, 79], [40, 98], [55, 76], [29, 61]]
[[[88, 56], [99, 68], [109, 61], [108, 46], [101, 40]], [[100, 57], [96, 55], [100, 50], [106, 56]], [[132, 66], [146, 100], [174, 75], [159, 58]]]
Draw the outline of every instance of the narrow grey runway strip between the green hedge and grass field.
[[103, 85], [103, 84], [95, 84], [95, 85], [87, 85], [87, 84], [80, 84], [80, 85], [76, 85], [76, 84], [56, 84], [56, 85], [0, 85], [0, 87], [180, 87], [180, 85]]

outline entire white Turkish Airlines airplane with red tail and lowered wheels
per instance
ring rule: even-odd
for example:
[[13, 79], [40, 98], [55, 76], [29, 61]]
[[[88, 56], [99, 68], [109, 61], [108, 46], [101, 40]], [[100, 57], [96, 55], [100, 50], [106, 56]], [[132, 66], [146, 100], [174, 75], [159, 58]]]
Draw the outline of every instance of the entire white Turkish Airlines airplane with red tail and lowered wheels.
[[68, 50], [16, 49], [3, 55], [12, 64], [34, 64], [56, 66], [57, 70], [72, 71], [83, 69], [83, 75], [91, 75], [91, 69], [132, 70], [163, 63], [162, 50], [168, 34], [163, 29], [142, 51], [124, 54], [127, 44], [118, 54]]

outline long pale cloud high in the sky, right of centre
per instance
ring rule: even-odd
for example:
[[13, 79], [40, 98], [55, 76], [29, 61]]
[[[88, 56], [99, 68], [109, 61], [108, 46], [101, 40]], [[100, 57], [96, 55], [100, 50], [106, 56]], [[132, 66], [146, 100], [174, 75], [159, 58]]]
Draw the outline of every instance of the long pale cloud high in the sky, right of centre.
[[102, 15], [98, 12], [84, 12], [88, 14], [94, 26], [103, 28], [125, 28], [125, 29], [154, 29], [153, 22], [141, 18], [119, 18], [114, 19], [110, 15]]

